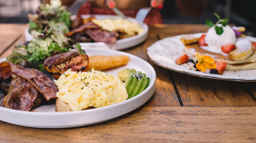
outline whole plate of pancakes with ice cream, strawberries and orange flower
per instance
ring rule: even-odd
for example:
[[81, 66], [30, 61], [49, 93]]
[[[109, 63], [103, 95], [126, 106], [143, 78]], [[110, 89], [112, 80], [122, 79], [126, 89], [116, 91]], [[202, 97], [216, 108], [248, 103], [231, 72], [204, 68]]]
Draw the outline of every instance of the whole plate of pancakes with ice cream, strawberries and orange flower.
[[245, 27], [229, 26], [228, 19], [216, 24], [209, 19], [205, 33], [177, 35], [159, 40], [147, 48], [156, 64], [199, 77], [256, 81], [256, 38], [246, 36]]

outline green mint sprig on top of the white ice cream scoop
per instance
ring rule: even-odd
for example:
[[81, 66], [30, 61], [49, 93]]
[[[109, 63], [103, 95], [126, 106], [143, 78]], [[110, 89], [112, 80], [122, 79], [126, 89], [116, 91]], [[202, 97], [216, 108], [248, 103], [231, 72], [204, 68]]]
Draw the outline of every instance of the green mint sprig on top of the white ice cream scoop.
[[[209, 19], [206, 19], [205, 25], [209, 26], [209, 27], [213, 27], [215, 28], [216, 34], [221, 35], [224, 31], [223, 31], [223, 27], [222, 26], [226, 26], [227, 22], [228, 22], [228, 18], [225, 19], [221, 19], [220, 16], [217, 13], [214, 13], [214, 15], [219, 19], [217, 21], [216, 24], [214, 24], [212, 21], [210, 21]], [[222, 26], [218, 26], [218, 24], [221, 23]]]

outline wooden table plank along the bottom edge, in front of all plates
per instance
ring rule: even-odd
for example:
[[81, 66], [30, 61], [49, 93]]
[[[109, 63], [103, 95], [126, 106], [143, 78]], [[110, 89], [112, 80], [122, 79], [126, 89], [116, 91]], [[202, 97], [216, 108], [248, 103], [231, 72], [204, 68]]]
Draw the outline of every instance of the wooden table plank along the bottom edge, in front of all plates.
[[256, 107], [144, 106], [75, 128], [30, 128], [0, 121], [0, 142], [256, 142], [255, 125]]

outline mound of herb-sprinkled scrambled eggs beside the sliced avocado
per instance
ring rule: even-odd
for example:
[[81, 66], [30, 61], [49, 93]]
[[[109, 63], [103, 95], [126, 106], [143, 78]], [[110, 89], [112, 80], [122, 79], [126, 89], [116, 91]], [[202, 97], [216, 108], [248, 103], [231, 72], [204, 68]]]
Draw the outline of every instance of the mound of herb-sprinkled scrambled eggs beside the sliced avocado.
[[128, 97], [125, 84], [118, 77], [94, 69], [78, 73], [69, 69], [54, 83], [59, 88], [57, 97], [73, 111], [119, 103]]

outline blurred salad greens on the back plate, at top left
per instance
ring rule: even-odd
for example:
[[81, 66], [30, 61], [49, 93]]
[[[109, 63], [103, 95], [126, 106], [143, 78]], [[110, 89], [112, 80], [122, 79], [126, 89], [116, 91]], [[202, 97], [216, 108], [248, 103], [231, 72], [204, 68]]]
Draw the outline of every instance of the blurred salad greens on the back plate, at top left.
[[29, 32], [32, 30], [42, 32], [49, 23], [63, 23], [67, 27], [70, 27], [70, 16], [71, 13], [65, 6], [61, 5], [60, 0], [51, 0], [50, 4], [41, 4], [36, 14], [28, 15], [30, 20]]

